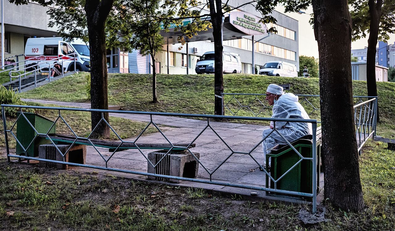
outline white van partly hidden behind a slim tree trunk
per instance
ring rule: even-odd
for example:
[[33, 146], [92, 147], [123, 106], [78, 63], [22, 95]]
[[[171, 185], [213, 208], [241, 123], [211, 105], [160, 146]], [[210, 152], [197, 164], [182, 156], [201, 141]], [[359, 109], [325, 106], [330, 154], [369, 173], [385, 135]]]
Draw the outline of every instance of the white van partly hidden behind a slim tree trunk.
[[[196, 73], [214, 73], [214, 55], [214, 51], [204, 53], [201, 59], [196, 63]], [[241, 59], [239, 54], [223, 52], [222, 63], [222, 70], [224, 73], [241, 73]]]

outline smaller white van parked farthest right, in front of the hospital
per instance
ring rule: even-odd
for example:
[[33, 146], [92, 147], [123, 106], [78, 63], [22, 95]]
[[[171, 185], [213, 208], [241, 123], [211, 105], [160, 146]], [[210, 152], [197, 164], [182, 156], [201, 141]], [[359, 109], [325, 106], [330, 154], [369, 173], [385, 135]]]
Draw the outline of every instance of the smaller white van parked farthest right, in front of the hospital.
[[284, 61], [271, 61], [265, 63], [259, 71], [260, 75], [297, 77], [296, 66]]

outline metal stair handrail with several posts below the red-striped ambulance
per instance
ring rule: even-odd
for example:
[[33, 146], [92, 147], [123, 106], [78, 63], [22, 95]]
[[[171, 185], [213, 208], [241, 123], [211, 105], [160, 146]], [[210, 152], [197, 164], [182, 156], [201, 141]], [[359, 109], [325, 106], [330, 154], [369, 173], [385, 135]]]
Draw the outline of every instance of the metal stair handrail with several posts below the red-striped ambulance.
[[[31, 59], [36, 59], [37, 57], [41, 57], [41, 56], [36, 56], [33, 57]], [[45, 56], [43, 56], [45, 58]], [[40, 61], [34, 65], [30, 65], [28, 67], [26, 67], [26, 64], [23, 65], [23, 69], [19, 70], [19, 71], [9, 71], [9, 82], [12, 81], [12, 78], [18, 78], [19, 77], [19, 88], [18, 91], [21, 92], [22, 89], [22, 78], [26, 77], [26, 75], [30, 75], [32, 73], [34, 73], [34, 87], [37, 87], [37, 73], [38, 71], [41, 71], [43, 69], [47, 69], [48, 68], [48, 81], [51, 82], [51, 66], [55, 66], [55, 64], [60, 64], [62, 65], [62, 76], [64, 76], [64, 65], [63, 65], [63, 58], [66, 57], [71, 57], [74, 58], [74, 70], [76, 67], [76, 54], [72, 53], [72, 54], [67, 54], [67, 55], [63, 55], [63, 56], [59, 56], [58, 58], [52, 59], [52, 60], [48, 60], [48, 61]], [[55, 61], [55, 62], [54, 62]], [[42, 66], [43, 64], [47, 64], [43, 67], [40, 67], [40, 65]], [[27, 71], [27, 69], [34, 69], [33, 71]], [[23, 71], [23, 73], [21, 73], [21, 71]], [[13, 73], [16, 73], [17, 76], [13, 76]]]

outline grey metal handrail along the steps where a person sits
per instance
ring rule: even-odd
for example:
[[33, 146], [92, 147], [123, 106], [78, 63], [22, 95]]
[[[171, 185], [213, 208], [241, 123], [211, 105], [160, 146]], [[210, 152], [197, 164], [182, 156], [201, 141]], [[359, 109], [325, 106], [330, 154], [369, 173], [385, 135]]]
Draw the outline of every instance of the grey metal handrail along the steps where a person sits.
[[[76, 53], [71, 53], [71, 54], [66, 54], [66, 55], [60, 56], [60, 57], [52, 59], [52, 60], [36, 63], [36, 64], [31, 65], [29, 67], [24, 67], [23, 69], [20, 70], [20, 71], [24, 71], [23, 74], [21, 74], [19, 71], [9, 71], [9, 82], [12, 81], [12, 78], [18, 78], [19, 77], [19, 89], [18, 89], [18, 91], [21, 92], [22, 76], [26, 76], [27, 74], [34, 73], [34, 86], [37, 86], [37, 79], [36, 79], [37, 78], [37, 71], [40, 71], [41, 69], [47, 68], [47, 67], [40, 67], [40, 65], [43, 65], [45, 63], [48, 63], [48, 81], [51, 82], [51, 62], [58, 60], [58, 62], [53, 63], [53, 65], [55, 65], [55, 64], [60, 63], [59, 60], [61, 60], [61, 63], [62, 63], [62, 76], [64, 76], [63, 58], [64, 57], [68, 57], [68, 56], [73, 56], [74, 57], [74, 70], [75, 70], [75, 65], [76, 65], [76, 61], [77, 61]], [[33, 57], [33, 58], [37, 58], [37, 57], [40, 57], [40, 56], [36, 56], [36, 57]], [[36, 67], [38, 67], [38, 68], [36, 68]], [[34, 71], [26, 72], [26, 69], [30, 69], [30, 68], [33, 68]], [[12, 76], [12, 73], [18, 73], [18, 76]]]

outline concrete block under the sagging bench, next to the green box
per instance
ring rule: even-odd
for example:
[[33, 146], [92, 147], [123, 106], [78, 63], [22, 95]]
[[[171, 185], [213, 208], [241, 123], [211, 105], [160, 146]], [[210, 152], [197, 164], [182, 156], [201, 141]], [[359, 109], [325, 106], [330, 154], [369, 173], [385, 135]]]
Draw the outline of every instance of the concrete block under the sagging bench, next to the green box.
[[[57, 144], [56, 147], [62, 152], [66, 153], [70, 145], [68, 144]], [[38, 157], [47, 160], [58, 160], [63, 161], [62, 155], [56, 150], [55, 145], [43, 144], [38, 148]], [[85, 164], [87, 159], [87, 147], [82, 144], [74, 144], [70, 150], [64, 155], [64, 161], [70, 163]], [[66, 169], [67, 164], [55, 164], [51, 162], [40, 161], [40, 167], [42, 168], [57, 168]]]

